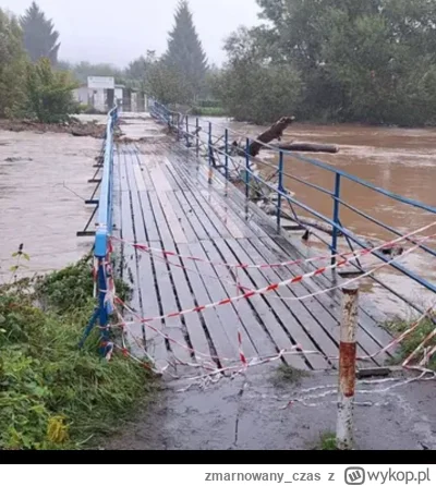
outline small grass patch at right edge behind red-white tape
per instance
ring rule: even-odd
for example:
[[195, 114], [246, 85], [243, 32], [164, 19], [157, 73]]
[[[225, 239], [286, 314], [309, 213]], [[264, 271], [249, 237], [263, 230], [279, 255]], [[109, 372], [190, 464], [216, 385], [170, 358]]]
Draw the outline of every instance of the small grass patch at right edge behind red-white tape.
[[[413, 321], [408, 321], [404, 319], [395, 319], [388, 323], [385, 323], [385, 327], [392, 332], [395, 336], [399, 336], [402, 332], [404, 332], [407, 329], [409, 329]], [[420, 326], [411, 332], [409, 336], [405, 337], [405, 339], [400, 343], [399, 350], [393, 357], [391, 364], [401, 364], [407, 357], [409, 357], [413, 351], [425, 340], [425, 338], [434, 330], [435, 324], [431, 319], [424, 319]], [[434, 347], [436, 345], [436, 338], [432, 339], [426, 347]], [[416, 357], [416, 361], [421, 361], [423, 357], [423, 353]], [[426, 366], [429, 369], [436, 370], [436, 355], [433, 356]]]

